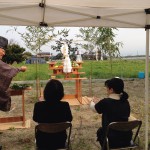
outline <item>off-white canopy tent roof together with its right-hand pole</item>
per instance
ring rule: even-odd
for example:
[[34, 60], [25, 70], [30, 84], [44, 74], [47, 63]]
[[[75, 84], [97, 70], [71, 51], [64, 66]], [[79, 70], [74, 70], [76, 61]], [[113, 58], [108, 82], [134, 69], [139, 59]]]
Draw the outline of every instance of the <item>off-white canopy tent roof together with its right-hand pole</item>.
[[0, 0], [0, 25], [145, 29], [145, 150], [148, 150], [150, 0]]

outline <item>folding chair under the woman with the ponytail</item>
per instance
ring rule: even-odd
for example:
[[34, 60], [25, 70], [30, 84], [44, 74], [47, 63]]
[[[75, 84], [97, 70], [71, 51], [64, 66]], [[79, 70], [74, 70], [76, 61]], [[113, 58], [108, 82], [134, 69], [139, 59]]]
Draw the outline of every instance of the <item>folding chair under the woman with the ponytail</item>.
[[[141, 128], [142, 121], [140, 120], [132, 120], [132, 121], [126, 121], [126, 122], [112, 122], [108, 125], [106, 136], [103, 143], [103, 150], [118, 150], [118, 149], [140, 149], [140, 143], [139, 143], [139, 130]], [[110, 130], [114, 131], [133, 131], [132, 140], [130, 142], [129, 146], [126, 147], [118, 147], [118, 148], [111, 148], [109, 146], [109, 132]]]

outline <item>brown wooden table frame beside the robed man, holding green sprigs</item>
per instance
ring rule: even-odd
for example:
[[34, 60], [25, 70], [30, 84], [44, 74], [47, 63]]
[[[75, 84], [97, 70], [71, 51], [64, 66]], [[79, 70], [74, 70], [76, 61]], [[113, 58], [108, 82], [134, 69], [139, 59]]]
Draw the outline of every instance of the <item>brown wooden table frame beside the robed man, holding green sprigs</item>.
[[10, 123], [10, 122], [22, 122], [22, 126], [25, 127], [25, 96], [24, 92], [25, 90], [31, 90], [31, 89], [21, 89], [21, 90], [14, 90], [10, 89], [10, 95], [11, 96], [17, 96], [17, 95], [22, 95], [22, 115], [21, 116], [13, 116], [13, 117], [3, 117], [0, 118], [0, 123]]

